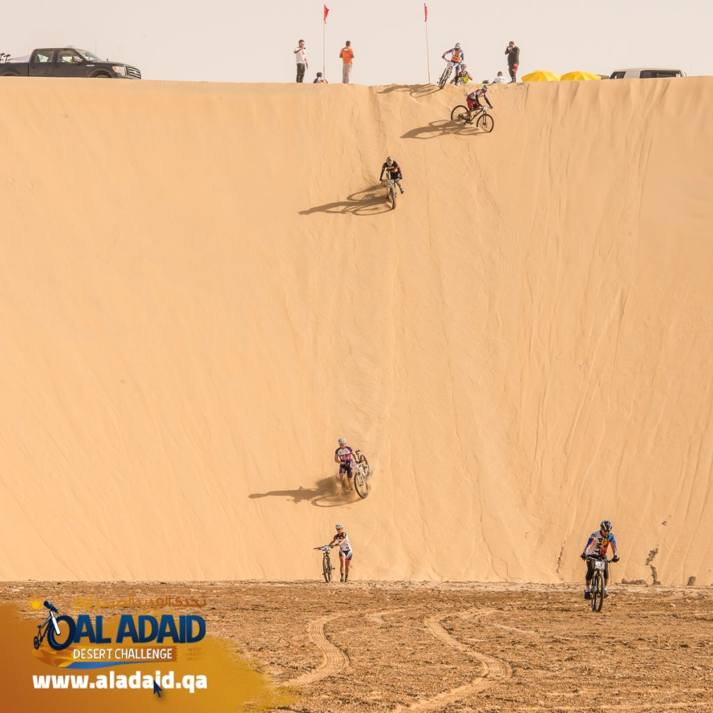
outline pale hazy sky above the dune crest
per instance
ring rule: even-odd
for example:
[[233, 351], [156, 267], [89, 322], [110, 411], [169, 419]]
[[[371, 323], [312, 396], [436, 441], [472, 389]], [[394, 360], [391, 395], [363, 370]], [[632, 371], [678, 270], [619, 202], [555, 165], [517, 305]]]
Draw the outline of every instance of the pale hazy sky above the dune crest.
[[[504, 50], [520, 46], [520, 75], [535, 69], [660, 66], [713, 74], [713, 0], [508, 0], [429, 3], [431, 80], [460, 41], [476, 78], [507, 73]], [[33, 0], [8, 2], [0, 51], [72, 44], [140, 68], [146, 79], [294, 81], [297, 40], [307, 41], [307, 81], [322, 69], [322, 1]], [[339, 81], [339, 49], [352, 40], [352, 81], [427, 79], [424, 3], [328, 0], [327, 78]], [[111, 11], [109, 10], [111, 8]]]

